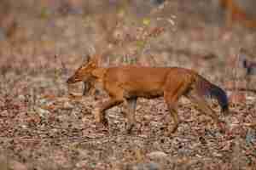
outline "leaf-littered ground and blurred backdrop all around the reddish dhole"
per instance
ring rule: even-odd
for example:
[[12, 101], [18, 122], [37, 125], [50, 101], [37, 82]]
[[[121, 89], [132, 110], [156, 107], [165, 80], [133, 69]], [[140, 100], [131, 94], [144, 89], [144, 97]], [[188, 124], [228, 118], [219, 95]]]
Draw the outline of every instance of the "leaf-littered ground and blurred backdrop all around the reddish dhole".
[[[166, 169], [255, 169], [255, 2], [0, 0], [0, 169], [145, 169], [155, 150], [169, 156]], [[67, 95], [88, 54], [102, 54], [102, 66], [199, 72], [227, 91], [230, 132], [181, 99], [182, 123], [165, 137], [166, 106], [140, 99], [136, 135], [123, 135], [121, 107], [108, 133], [91, 114], [96, 99]], [[82, 83], [72, 90], [82, 94]]]

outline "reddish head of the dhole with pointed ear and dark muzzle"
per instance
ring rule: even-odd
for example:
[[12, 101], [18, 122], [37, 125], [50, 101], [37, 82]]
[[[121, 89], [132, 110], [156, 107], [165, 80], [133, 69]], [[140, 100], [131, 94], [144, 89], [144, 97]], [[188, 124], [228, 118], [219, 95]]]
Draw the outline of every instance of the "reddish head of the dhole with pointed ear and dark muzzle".
[[79, 67], [77, 71], [73, 74], [72, 77], [67, 79], [67, 83], [75, 83], [75, 82], [86, 82], [92, 77], [91, 72], [94, 71], [98, 67], [98, 59], [97, 57], [93, 57], [90, 59], [90, 56], [87, 56], [87, 61], [84, 62], [83, 65]]

